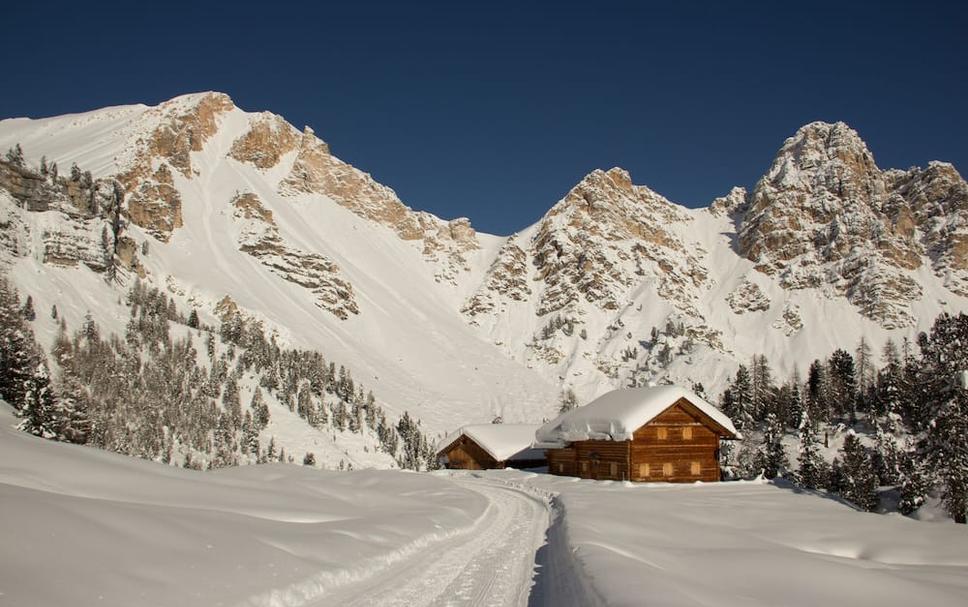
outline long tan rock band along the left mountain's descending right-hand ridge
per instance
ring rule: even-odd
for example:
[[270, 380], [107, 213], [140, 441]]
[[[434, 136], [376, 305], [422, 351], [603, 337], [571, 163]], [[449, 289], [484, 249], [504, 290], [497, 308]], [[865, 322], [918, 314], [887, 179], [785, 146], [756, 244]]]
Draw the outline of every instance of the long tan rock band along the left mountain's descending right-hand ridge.
[[438, 280], [452, 281], [466, 270], [464, 254], [480, 245], [466, 218], [444, 221], [414, 211], [368, 173], [330, 154], [329, 146], [306, 127], [289, 175], [279, 184], [287, 196], [322, 194], [360, 217], [384, 225], [403, 240], [420, 243], [424, 255], [442, 262]]

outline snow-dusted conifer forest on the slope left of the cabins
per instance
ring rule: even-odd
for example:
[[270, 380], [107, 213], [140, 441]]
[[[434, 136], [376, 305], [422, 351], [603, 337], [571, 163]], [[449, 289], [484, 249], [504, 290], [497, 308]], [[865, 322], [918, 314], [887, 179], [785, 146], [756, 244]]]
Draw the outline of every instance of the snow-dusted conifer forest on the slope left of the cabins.
[[[21, 304], [0, 277], [0, 396], [22, 430], [195, 469], [295, 461], [274, 438], [260, 439], [271, 396], [315, 428], [373, 436], [400, 467], [436, 465], [419, 422], [408, 413], [389, 421], [372, 392], [319, 352], [281, 347], [237, 311], [217, 330], [204, 326], [140, 280], [125, 303], [122, 336], [103, 335], [90, 315], [73, 332], [59, 318], [48, 360], [31, 327], [32, 299]], [[186, 330], [173, 337], [178, 326]], [[256, 385], [243, 403], [247, 375]], [[315, 463], [312, 453], [302, 459]]]

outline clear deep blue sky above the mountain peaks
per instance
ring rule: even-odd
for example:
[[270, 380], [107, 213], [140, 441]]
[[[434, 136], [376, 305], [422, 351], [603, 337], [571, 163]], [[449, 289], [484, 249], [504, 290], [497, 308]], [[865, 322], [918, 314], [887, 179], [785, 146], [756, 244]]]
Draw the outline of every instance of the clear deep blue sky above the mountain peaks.
[[499, 234], [595, 168], [706, 205], [813, 120], [968, 167], [963, 2], [305, 4], [11, 3], [0, 117], [224, 91]]

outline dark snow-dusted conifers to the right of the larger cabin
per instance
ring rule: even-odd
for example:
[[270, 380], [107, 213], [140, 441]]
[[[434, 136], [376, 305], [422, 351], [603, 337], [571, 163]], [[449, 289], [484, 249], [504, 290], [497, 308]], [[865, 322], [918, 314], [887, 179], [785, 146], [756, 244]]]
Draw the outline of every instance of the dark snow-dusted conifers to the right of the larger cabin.
[[[905, 514], [936, 493], [965, 523], [968, 316], [940, 315], [916, 346], [889, 340], [880, 363], [862, 339], [853, 353], [838, 349], [813, 361], [805, 380], [794, 372], [777, 383], [762, 355], [740, 365], [720, 398], [746, 437], [738, 449], [724, 447], [728, 466], [741, 477], [783, 476], [835, 492], [864, 510], [877, 509], [878, 487], [895, 487]], [[846, 436], [828, 463], [823, 452], [832, 428]], [[788, 433], [797, 436], [796, 471], [782, 443]]]

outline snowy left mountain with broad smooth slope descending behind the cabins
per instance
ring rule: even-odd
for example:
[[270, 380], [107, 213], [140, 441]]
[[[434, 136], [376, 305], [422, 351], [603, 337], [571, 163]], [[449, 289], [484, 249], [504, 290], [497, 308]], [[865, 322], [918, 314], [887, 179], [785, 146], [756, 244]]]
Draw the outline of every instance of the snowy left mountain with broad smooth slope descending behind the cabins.
[[[323, 351], [389, 411], [409, 410], [432, 432], [495, 415], [540, 421], [554, 409], [552, 382], [486, 343], [457, 313], [464, 285], [500, 239], [411, 211], [329, 156], [311, 130], [205, 93], [153, 108], [3, 121], [0, 148], [15, 143], [30, 166], [45, 156], [62, 176], [76, 163], [99, 184], [114, 178], [124, 199], [117, 240], [131, 241], [122, 282], [141, 273], [197, 307], [203, 322], [217, 323], [216, 305], [228, 295], [282, 343]], [[33, 210], [21, 198], [35, 192], [0, 187], [12, 242], [4, 257], [20, 289], [38, 309], [63, 307], [72, 327], [89, 310], [121, 331], [116, 301], [125, 287], [99, 281], [101, 268], [80, 254], [47, 254], [47, 225], [82, 233], [98, 249], [106, 220], [69, 200]]]

